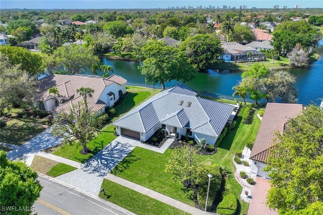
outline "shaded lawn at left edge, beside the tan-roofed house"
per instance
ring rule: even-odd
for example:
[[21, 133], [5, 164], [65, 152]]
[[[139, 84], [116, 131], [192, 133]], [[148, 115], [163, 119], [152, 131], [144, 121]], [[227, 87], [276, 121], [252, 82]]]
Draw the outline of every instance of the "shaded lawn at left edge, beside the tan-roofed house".
[[17, 113], [20, 110], [15, 108], [10, 111], [12, 116], [7, 121], [7, 126], [0, 130], [2, 142], [21, 145], [46, 129], [46, 126], [40, 124], [40, 119], [18, 118]]

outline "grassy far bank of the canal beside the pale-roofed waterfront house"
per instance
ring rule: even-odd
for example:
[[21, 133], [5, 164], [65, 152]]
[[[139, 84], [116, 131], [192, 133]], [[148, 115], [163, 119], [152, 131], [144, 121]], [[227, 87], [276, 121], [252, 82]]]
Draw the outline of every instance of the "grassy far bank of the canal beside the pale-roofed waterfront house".
[[[270, 68], [273, 69], [287, 69], [287, 68], [291, 68], [289, 66], [289, 60], [285, 57], [280, 57], [281, 60], [277, 61], [274, 60], [274, 64], [273, 64], [273, 60], [272, 59], [266, 59], [266, 61], [261, 61], [258, 63], [261, 64], [265, 64]], [[223, 62], [217, 66], [214, 66], [213, 69], [218, 69], [218, 70], [230, 70], [230, 71], [246, 71], [249, 70], [251, 68], [251, 65], [253, 63], [251, 62], [251, 64], [249, 64], [248, 62], [244, 62], [244, 63], [235, 63], [235, 62]]]

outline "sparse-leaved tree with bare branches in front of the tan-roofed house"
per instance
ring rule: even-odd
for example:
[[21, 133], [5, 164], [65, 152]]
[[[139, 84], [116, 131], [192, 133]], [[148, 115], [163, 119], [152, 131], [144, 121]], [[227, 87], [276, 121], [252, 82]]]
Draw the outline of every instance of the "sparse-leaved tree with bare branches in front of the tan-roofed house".
[[84, 102], [78, 102], [56, 115], [51, 133], [62, 137], [63, 144], [76, 142], [82, 146], [81, 153], [88, 153], [87, 143], [96, 136], [103, 121], [103, 115], [97, 117]]

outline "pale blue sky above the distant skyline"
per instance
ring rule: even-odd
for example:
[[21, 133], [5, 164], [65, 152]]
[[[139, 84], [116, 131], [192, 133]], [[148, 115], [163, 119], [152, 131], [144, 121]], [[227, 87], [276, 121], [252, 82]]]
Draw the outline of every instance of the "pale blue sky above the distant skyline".
[[294, 8], [295, 5], [301, 5], [301, 8], [323, 8], [322, 0], [283, 0], [283, 1], [261, 1], [261, 0], [235, 0], [235, 1], [195, 1], [195, 0], [150, 0], [150, 1], [130, 1], [130, 0], [0, 0], [0, 9], [166, 9], [168, 7], [183, 7], [196, 6], [208, 7], [209, 5], [220, 6], [227, 5], [228, 7], [239, 8], [240, 5], [246, 5], [248, 8], [273, 8], [274, 5], [279, 5], [280, 8]]

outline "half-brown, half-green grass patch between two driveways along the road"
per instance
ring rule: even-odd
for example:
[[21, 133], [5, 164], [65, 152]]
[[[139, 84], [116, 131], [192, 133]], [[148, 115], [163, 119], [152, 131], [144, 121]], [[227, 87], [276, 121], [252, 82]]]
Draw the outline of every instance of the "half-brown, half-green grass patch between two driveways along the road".
[[73, 170], [76, 170], [75, 167], [71, 167], [69, 165], [56, 162], [55, 160], [48, 159], [46, 157], [35, 155], [34, 159], [31, 163], [31, 169], [51, 176], [51, 177], [57, 177], [60, 175], [63, 175], [65, 173], [71, 172]]

